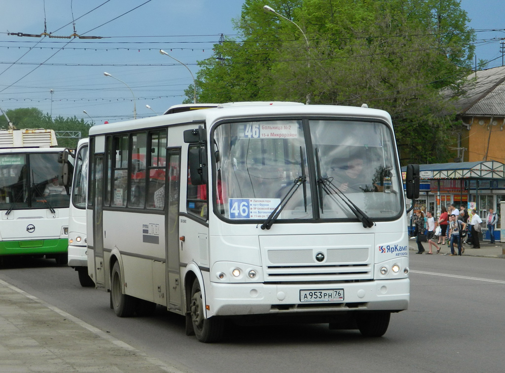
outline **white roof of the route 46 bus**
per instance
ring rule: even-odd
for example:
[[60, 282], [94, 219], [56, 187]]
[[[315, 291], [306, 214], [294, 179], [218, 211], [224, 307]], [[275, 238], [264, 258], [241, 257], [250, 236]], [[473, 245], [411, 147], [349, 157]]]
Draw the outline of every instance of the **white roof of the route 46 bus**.
[[388, 112], [380, 109], [371, 109], [357, 106], [337, 105], [305, 105], [292, 102], [251, 102], [218, 104], [206, 110], [189, 110], [170, 115], [127, 120], [123, 122], [108, 123], [93, 126], [89, 135], [99, 135], [110, 132], [122, 132], [156, 128], [178, 123], [206, 122], [211, 125], [221, 119], [240, 119], [250, 117], [275, 117], [275, 116], [342, 116], [382, 119], [391, 123]]

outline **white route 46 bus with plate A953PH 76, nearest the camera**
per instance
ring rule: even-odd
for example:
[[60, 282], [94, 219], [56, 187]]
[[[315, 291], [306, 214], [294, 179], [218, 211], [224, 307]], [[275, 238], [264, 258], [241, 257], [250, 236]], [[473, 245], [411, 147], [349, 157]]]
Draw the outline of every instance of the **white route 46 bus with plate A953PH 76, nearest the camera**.
[[213, 342], [262, 319], [382, 336], [407, 309], [387, 112], [233, 103], [89, 135], [88, 271], [118, 316], [161, 304]]

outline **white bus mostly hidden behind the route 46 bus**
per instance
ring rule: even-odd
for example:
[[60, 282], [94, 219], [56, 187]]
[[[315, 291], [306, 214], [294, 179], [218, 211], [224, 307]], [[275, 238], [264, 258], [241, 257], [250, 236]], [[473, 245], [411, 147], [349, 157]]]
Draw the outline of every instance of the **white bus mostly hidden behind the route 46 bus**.
[[94, 286], [86, 256], [86, 199], [88, 190], [88, 139], [77, 144], [68, 221], [68, 265], [79, 275], [81, 286]]

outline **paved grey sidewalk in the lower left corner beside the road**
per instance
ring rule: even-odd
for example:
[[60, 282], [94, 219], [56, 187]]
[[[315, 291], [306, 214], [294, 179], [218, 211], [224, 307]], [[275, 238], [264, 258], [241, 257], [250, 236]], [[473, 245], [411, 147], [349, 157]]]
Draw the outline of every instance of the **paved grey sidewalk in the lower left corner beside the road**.
[[182, 373], [2, 280], [0, 372]]

